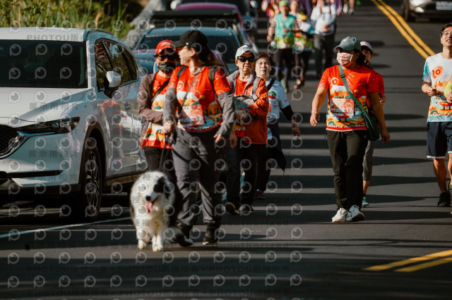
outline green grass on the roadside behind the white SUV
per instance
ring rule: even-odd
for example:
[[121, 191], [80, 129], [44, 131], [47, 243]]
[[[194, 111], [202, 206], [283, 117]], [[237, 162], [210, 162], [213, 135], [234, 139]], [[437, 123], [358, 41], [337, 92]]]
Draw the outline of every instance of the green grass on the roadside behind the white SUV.
[[8, 0], [0, 6], [0, 26], [97, 27], [124, 39], [140, 11], [137, 0]]

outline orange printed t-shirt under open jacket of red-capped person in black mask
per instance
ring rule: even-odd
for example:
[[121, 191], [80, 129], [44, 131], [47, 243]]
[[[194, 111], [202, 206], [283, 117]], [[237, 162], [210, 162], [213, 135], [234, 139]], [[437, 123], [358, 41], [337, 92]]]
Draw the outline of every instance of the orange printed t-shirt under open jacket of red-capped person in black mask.
[[[167, 80], [169, 80], [169, 78], [160, 76], [158, 75], [158, 73], [155, 74], [153, 94], [152, 96], [150, 96], [150, 99], [153, 98], [155, 93]], [[162, 89], [162, 92], [160, 92], [160, 94], [155, 97], [151, 109], [153, 109], [154, 111], [163, 111], [163, 102], [165, 101], [165, 92], [167, 92], [167, 89], [168, 85], [164, 89]], [[141, 146], [164, 148], [165, 133], [163, 133], [163, 126], [161, 124], [149, 123], [148, 130], [146, 131]], [[169, 144], [167, 144], [166, 148], [170, 148]]]

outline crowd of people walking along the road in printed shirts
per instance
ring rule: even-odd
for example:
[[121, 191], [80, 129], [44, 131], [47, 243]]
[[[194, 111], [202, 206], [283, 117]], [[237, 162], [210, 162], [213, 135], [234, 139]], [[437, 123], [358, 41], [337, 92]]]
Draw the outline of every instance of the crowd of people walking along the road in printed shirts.
[[[282, 170], [287, 164], [280, 141], [280, 112], [291, 123], [294, 138], [301, 135], [287, 91], [303, 87], [312, 51], [320, 82], [310, 123], [319, 123], [327, 96], [326, 139], [338, 207], [332, 222], [364, 220], [362, 207], [369, 206], [366, 193], [375, 146], [372, 125], [383, 144], [391, 137], [383, 113], [383, 77], [371, 68], [371, 44], [345, 37], [334, 46], [336, 20], [345, 8], [352, 14], [354, 2], [343, 6], [340, 0], [262, 1], [261, 8], [270, 18], [267, 42], [273, 49], [256, 54], [250, 46], [241, 46], [235, 54], [238, 70], [230, 75], [198, 30], [185, 32], [178, 41], [158, 44], [158, 72], [141, 83], [139, 110], [148, 120], [141, 146], [148, 169], [166, 170], [174, 185], [177, 213], [169, 224], [176, 232], [174, 242], [193, 244], [190, 232], [200, 208], [206, 225], [203, 244], [215, 244], [223, 209], [231, 215], [251, 215], [254, 200], [265, 199], [270, 162]], [[449, 154], [452, 177], [452, 113], [434, 115], [432, 111], [452, 103], [451, 39], [452, 24], [448, 24], [441, 30], [443, 52], [427, 58], [422, 85], [422, 92], [431, 96], [427, 156], [434, 159], [439, 206], [451, 203], [444, 154]], [[333, 51], [337, 65], [333, 65]], [[435, 71], [439, 66], [444, 71], [441, 75]], [[165, 151], [168, 155], [163, 155]], [[219, 182], [221, 161], [226, 162], [225, 185]], [[222, 192], [226, 192], [224, 204]]]

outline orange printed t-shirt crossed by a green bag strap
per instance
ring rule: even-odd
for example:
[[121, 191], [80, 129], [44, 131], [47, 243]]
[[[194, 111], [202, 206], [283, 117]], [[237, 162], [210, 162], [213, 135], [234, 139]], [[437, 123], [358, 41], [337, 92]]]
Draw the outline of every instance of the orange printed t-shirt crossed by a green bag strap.
[[[353, 70], [344, 70], [344, 74], [350, 91], [362, 108], [369, 111], [370, 102], [367, 93], [378, 92], [374, 71], [360, 65]], [[348, 96], [340, 78], [338, 65], [325, 70], [319, 87], [328, 89], [327, 130], [367, 130], [361, 111], [355, 106], [355, 101]]]

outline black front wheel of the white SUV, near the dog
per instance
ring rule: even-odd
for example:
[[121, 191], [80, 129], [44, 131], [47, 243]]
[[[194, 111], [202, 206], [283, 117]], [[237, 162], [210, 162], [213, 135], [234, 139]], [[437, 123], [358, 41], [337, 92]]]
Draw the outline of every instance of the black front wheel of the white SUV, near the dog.
[[81, 189], [74, 195], [69, 205], [71, 217], [75, 220], [93, 221], [97, 219], [102, 201], [102, 163], [97, 142], [93, 137], [85, 141], [83, 161], [81, 162]]

